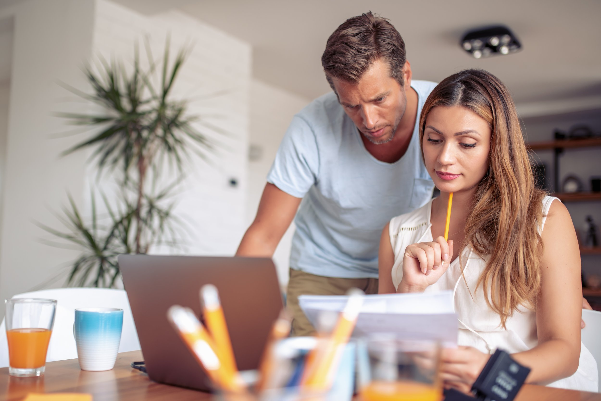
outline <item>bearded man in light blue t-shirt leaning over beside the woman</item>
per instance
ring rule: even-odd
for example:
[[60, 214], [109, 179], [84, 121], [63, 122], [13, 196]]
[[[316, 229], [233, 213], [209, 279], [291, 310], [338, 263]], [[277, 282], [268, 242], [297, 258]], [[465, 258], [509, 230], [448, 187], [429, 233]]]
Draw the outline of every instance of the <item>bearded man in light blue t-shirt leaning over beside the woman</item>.
[[377, 293], [382, 227], [433, 190], [418, 121], [436, 84], [412, 81], [394, 26], [371, 12], [347, 20], [322, 65], [334, 92], [294, 116], [236, 253], [271, 257], [296, 215], [287, 291], [295, 335], [314, 332], [299, 295]]

